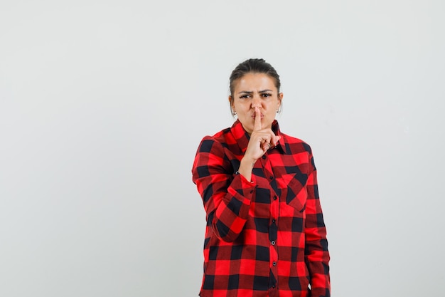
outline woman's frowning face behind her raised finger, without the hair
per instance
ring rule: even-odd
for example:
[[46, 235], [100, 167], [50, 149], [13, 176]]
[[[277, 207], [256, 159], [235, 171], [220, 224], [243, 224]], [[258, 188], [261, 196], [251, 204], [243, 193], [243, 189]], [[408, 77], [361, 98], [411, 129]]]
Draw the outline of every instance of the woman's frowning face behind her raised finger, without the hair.
[[247, 73], [235, 81], [233, 98], [229, 96], [229, 101], [247, 133], [254, 130], [255, 108], [261, 113], [261, 128], [272, 127], [283, 99], [274, 82], [265, 73]]

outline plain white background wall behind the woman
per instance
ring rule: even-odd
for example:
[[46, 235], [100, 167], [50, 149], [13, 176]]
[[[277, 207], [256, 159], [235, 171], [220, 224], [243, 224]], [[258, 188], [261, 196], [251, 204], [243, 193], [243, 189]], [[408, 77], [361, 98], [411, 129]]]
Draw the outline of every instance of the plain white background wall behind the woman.
[[0, 296], [197, 296], [191, 166], [246, 58], [309, 142], [333, 296], [444, 296], [445, 2], [0, 1]]

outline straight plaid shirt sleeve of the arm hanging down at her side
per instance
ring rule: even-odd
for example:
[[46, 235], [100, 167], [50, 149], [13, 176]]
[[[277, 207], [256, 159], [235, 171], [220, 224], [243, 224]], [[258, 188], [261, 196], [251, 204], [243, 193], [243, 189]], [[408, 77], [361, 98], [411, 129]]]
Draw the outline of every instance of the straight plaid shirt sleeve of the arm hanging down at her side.
[[308, 199], [306, 202], [306, 249], [305, 260], [311, 276], [311, 296], [330, 297], [331, 280], [329, 276], [329, 252], [326, 239], [326, 226], [323, 221], [316, 167], [312, 153], [309, 153], [309, 172], [306, 184]]

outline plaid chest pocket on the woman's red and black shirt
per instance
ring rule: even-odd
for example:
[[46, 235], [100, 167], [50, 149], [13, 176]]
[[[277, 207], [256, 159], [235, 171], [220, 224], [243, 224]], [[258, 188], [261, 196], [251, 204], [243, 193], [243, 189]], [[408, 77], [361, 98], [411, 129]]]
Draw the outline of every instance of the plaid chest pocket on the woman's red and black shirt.
[[308, 197], [307, 179], [307, 174], [291, 173], [282, 175], [279, 182], [279, 187], [282, 188], [282, 195], [286, 199], [286, 203], [299, 212], [303, 212], [306, 208], [306, 199]]

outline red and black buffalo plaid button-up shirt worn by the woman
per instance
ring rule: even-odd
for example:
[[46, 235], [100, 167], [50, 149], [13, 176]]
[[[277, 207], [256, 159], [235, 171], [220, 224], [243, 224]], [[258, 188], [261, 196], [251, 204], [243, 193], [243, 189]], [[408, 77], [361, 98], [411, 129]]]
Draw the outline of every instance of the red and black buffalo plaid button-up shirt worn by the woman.
[[206, 136], [193, 163], [207, 226], [203, 297], [328, 297], [329, 253], [311, 147], [282, 136], [237, 174], [250, 136], [239, 120]]

